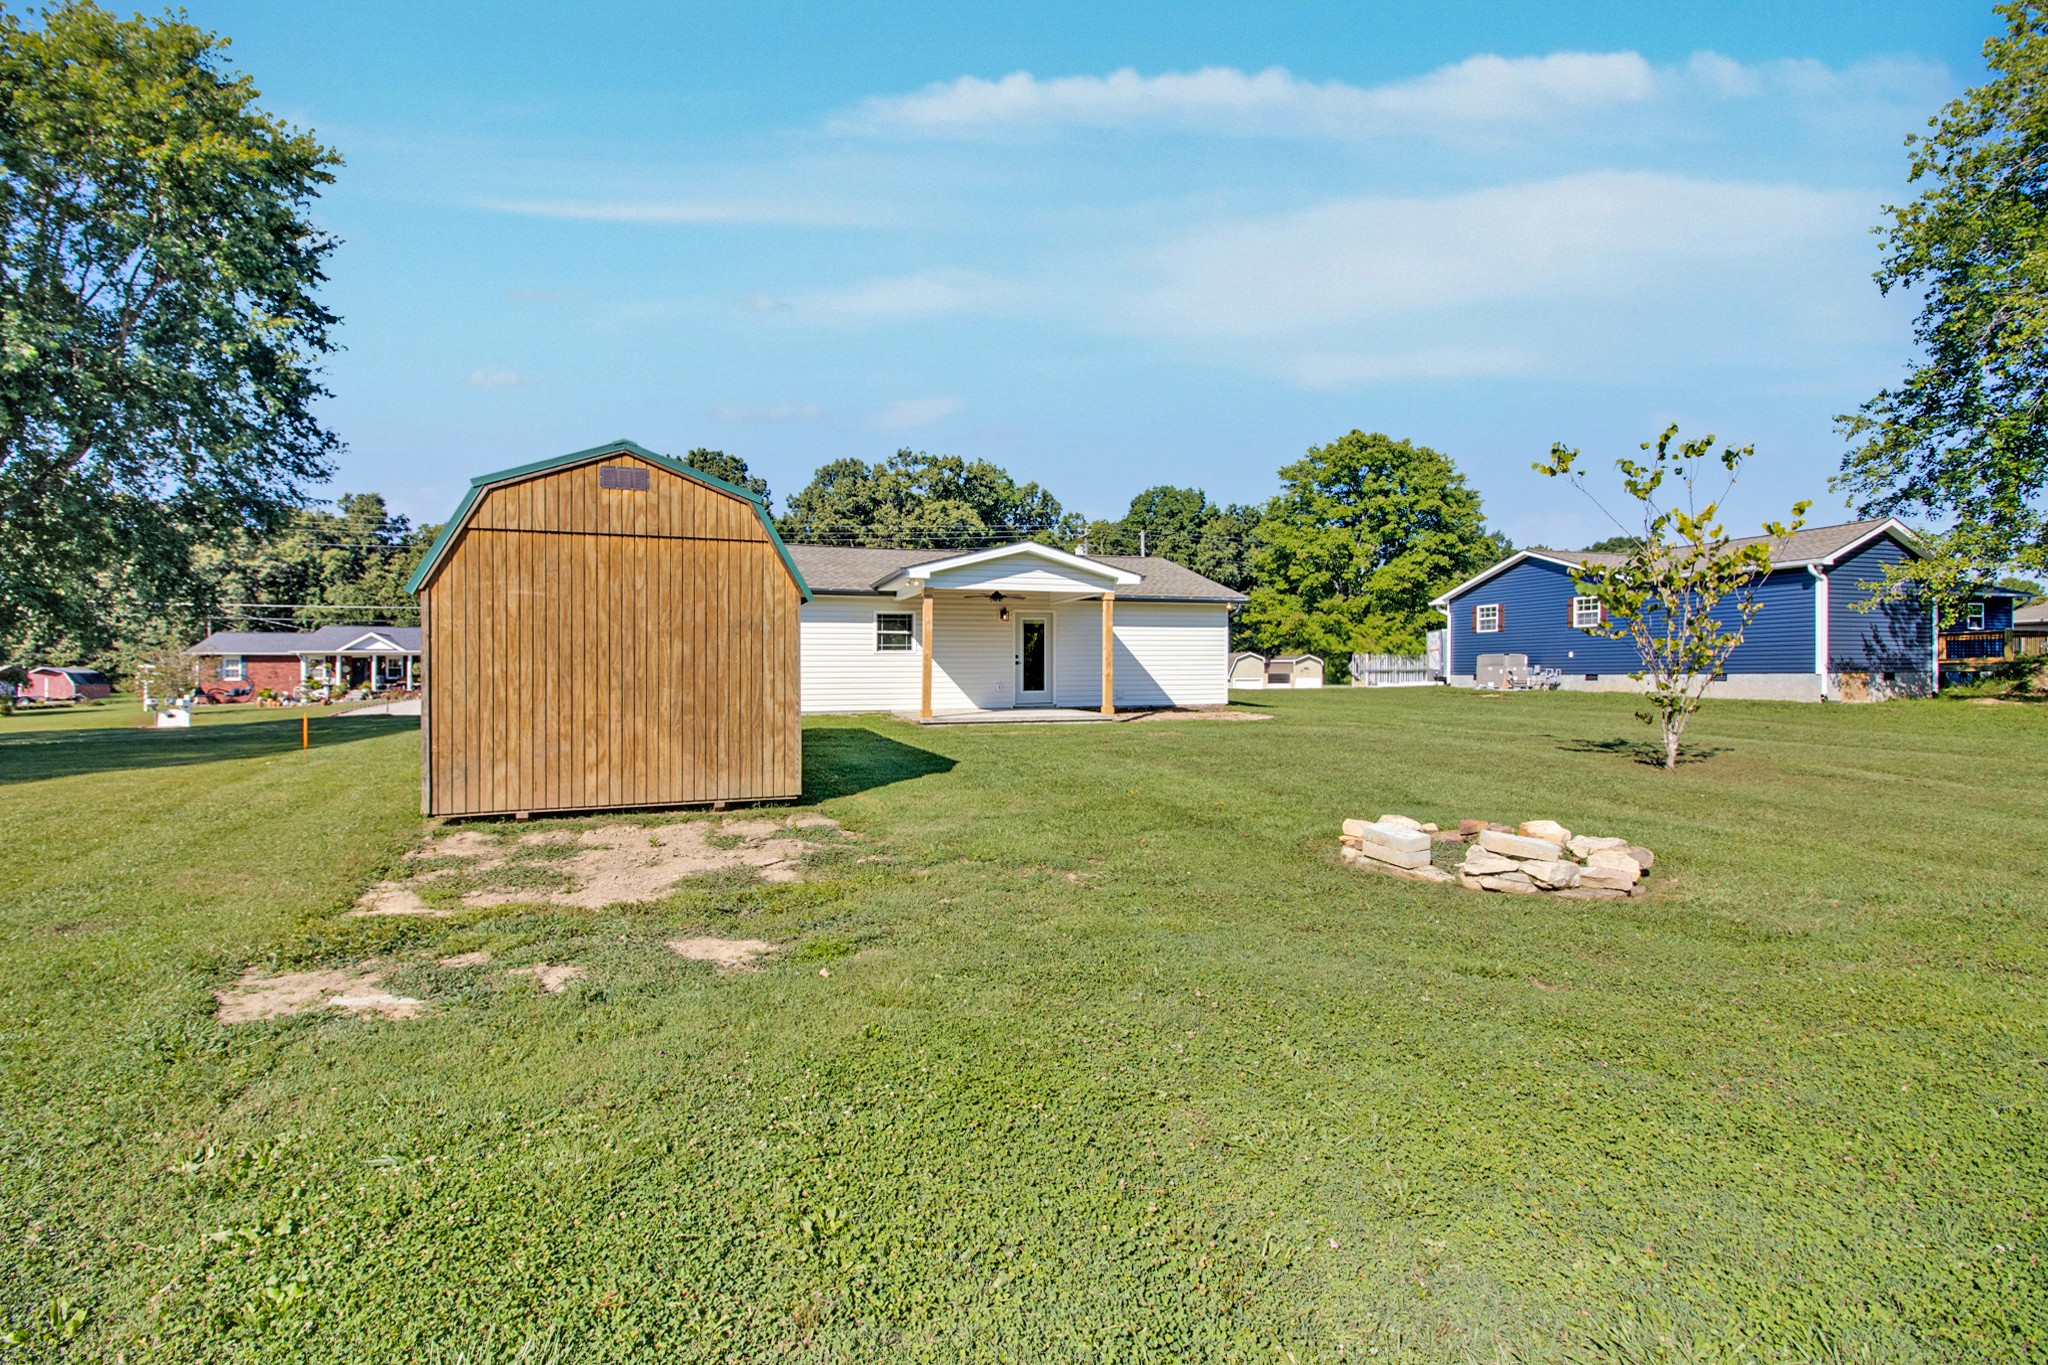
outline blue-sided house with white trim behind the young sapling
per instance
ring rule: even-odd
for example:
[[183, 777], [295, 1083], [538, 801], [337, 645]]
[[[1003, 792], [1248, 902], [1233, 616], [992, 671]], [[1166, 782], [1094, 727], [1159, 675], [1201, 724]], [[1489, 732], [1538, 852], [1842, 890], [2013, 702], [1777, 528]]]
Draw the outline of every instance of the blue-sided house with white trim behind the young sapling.
[[[1735, 544], [1759, 542], [1772, 551], [1772, 571], [1755, 589], [1759, 610], [1710, 696], [1868, 702], [1935, 690], [1933, 608], [1919, 600], [1866, 606], [1886, 565], [1921, 553], [1898, 520], [1808, 526]], [[1599, 602], [1571, 577], [1575, 567], [1618, 561], [1589, 551], [1520, 551], [1452, 587], [1434, 602], [1446, 616], [1448, 681], [1475, 688], [1511, 665], [1556, 673], [1565, 688], [1636, 690], [1630, 673], [1642, 659], [1634, 643], [1597, 634]]]

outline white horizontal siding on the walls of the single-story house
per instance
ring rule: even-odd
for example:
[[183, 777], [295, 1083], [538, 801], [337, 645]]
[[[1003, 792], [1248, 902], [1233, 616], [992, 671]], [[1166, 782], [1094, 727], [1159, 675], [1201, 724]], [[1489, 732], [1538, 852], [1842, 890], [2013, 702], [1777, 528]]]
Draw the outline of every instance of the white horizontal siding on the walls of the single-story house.
[[[803, 710], [918, 710], [920, 649], [877, 649], [874, 616], [895, 598], [819, 596], [803, 606]], [[922, 604], [907, 604], [915, 614]], [[932, 606], [932, 710], [1016, 706], [1016, 628], [1022, 616], [1053, 622], [1053, 704], [1102, 704], [1102, 604], [1036, 608], [977, 598]], [[1118, 706], [1221, 706], [1229, 700], [1229, 612], [1212, 602], [1116, 604]]]

